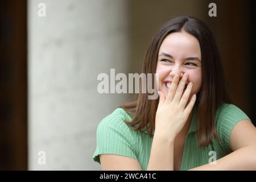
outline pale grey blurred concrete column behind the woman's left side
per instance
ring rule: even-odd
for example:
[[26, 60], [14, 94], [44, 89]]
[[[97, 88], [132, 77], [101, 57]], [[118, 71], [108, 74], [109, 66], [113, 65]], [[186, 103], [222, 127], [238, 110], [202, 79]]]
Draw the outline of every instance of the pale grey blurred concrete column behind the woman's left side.
[[99, 94], [97, 76], [128, 72], [126, 7], [119, 0], [28, 1], [28, 169], [101, 169], [92, 160], [96, 127], [128, 97]]

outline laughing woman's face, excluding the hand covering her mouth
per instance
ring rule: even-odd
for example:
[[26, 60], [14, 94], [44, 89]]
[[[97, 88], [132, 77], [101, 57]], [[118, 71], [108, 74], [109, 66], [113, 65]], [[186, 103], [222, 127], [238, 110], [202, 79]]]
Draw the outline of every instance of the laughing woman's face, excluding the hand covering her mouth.
[[174, 32], [168, 35], [159, 49], [156, 73], [159, 74], [159, 90], [165, 96], [174, 76], [179, 75], [181, 78], [184, 73], [188, 73], [186, 86], [189, 81], [193, 83], [189, 100], [193, 94], [199, 93], [201, 50], [198, 40], [187, 32]]

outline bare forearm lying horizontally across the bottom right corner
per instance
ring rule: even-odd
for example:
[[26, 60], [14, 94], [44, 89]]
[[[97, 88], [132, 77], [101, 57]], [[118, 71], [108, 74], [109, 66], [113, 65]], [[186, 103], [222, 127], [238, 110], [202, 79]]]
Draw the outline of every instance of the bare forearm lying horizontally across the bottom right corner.
[[190, 170], [256, 170], [256, 147], [240, 148], [216, 161]]

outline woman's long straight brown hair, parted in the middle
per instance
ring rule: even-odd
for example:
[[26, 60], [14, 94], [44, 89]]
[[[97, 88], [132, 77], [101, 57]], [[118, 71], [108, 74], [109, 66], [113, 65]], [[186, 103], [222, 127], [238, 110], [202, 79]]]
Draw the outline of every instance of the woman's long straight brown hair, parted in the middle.
[[[205, 147], [212, 143], [212, 135], [217, 139], [217, 131], [214, 125], [217, 108], [222, 101], [231, 102], [225, 90], [220, 53], [213, 34], [207, 25], [191, 16], [179, 16], [165, 23], [151, 40], [144, 57], [142, 73], [155, 73], [158, 52], [163, 40], [172, 32], [180, 31], [195, 36], [200, 43], [202, 84], [199, 93], [197, 93], [195, 105], [197, 107], [197, 138], [200, 147]], [[140, 92], [136, 101], [120, 106], [133, 118], [132, 121], [125, 121], [125, 123], [133, 127], [134, 130], [146, 130], [152, 136], [155, 129], [158, 103], [159, 98], [148, 100], [148, 93]]]

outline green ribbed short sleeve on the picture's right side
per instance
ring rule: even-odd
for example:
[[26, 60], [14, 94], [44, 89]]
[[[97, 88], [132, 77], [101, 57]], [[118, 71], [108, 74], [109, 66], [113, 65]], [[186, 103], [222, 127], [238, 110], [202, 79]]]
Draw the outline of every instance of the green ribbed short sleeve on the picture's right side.
[[225, 103], [218, 109], [216, 129], [219, 142], [226, 151], [232, 151], [230, 147], [230, 134], [234, 126], [243, 119], [250, 120], [240, 108], [233, 104]]

